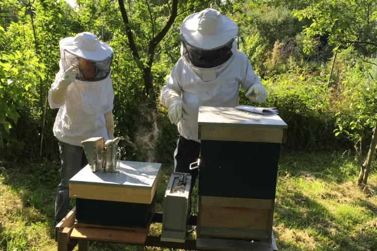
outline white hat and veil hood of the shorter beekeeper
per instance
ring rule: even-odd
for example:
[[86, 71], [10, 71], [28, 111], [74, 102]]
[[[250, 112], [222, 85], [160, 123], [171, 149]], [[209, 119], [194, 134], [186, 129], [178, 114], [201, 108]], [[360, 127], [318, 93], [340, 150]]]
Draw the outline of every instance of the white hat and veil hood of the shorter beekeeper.
[[[109, 76], [114, 50], [107, 43], [100, 41], [96, 35], [89, 32], [79, 33], [75, 37], [60, 40], [59, 46], [61, 56], [59, 66], [63, 72], [76, 64], [77, 80], [100, 81]], [[80, 60], [84, 63], [80, 63]], [[92, 74], [85, 75], [82, 67], [90, 68]]]

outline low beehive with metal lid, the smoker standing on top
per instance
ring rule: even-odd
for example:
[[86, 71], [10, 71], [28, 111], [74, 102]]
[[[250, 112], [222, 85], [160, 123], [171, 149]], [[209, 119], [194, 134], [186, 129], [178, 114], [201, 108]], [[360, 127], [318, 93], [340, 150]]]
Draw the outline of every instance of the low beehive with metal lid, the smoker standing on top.
[[154, 213], [161, 164], [120, 162], [119, 173], [92, 172], [87, 165], [69, 180], [80, 223], [146, 228]]

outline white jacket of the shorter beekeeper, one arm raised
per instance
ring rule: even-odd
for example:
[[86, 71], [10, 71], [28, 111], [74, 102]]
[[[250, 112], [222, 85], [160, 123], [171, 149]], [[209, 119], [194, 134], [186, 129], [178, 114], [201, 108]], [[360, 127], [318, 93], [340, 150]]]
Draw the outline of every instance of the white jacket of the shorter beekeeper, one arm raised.
[[59, 71], [48, 93], [51, 108], [59, 108], [54, 123], [54, 136], [61, 142], [82, 146], [81, 141], [92, 137], [104, 137], [108, 134], [104, 114], [113, 110], [114, 90], [110, 75], [100, 81], [75, 80], [69, 86], [65, 100], [56, 104], [51, 100], [51, 91], [56, 88], [58, 79], [63, 75]]

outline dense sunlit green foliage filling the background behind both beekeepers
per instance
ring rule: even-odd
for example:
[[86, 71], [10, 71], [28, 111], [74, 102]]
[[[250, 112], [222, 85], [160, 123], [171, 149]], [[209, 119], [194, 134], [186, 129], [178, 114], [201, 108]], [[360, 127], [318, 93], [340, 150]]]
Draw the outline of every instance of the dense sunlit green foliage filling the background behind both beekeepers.
[[[179, 15], [154, 53], [151, 72], [156, 96], [180, 57], [181, 22], [187, 15], [211, 6], [228, 14], [239, 25], [238, 48], [248, 56], [268, 91], [263, 105], [277, 106], [281, 117], [289, 124], [285, 149], [349, 148], [345, 137], [334, 136], [333, 125], [338, 119], [348, 124], [351, 120], [356, 122], [358, 115], [354, 107], [360, 100], [365, 100], [361, 107], [372, 106], [367, 103], [369, 92], [364, 84], [370, 78], [370, 67], [360, 59], [363, 55], [358, 48], [344, 50], [340, 47], [332, 77], [334, 87], [327, 87], [332, 48], [322, 41], [324, 37], [318, 36], [328, 32], [315, 32], [309, 37], [306, 30], [302, 33], [303, 26], [314, 29], [310, 25], [319, 22], [305, 18], [310, 8], [320, 10], [318, 3], [322, 2], [313, 5], [308, 1], [246, 1], [246, 4], [243, 1], [179, 1]], [[57, 110], [47, 107], [43, 116], [47, 92], [58, 71], [58, 42], [63, 37], [89, 31], [108, 42], [115, 51], [111, 78], [115, 91], [116, 135], [130, 137], [130, 141], [124, 143], [125, 159], [152, 158], [172, 163], [176, 126], [170, 123], [167, 110], [158, 100], [154, 100], [157, 101], [157, 116], [147, 115], [149, 100], [145, 99], [143, 72], [138, 65], [138, 62], [144, 66], [147, 63], [148, 43], [165, 25], [171, 4], [166, 1], [149, 1], [148, 4], [144, 1], [125, 3], [139, 61], [135, 61], [130, 51], [118, 1], [80, 0], [77, 10], [63, 1], [35, 1], [31, 6], [33, 22], [30, 6], [18, 1], [0, 4], [0, 93], [4, 93], [2, 98], [6, 100], [1, 104], [8, 107], [0, 111], [0, 130], [7, 156], [17, 160], [37, 158], [43, 134], [42, 156], [58, 158], [51, 130]], [[370, 61], [368, 56], [365, 54], [365, 59]], [[253, 104], [243, 93], [240, 103]], [[354, 112], [347, 112], [351, 103]], [[364, 138], [370, 139], [370, 132], [364, 131]]]

